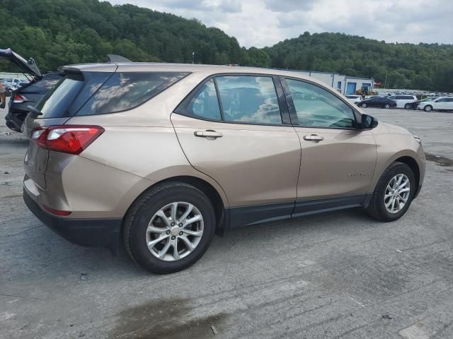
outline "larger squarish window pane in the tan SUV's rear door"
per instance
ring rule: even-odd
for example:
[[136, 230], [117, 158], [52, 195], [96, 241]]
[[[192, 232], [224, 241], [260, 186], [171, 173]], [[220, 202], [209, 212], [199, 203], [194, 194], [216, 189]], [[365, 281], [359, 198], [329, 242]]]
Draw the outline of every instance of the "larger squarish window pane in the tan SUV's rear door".
[[215, 79], [225, 121], [282, 124], [272, 78], [219, 76]]

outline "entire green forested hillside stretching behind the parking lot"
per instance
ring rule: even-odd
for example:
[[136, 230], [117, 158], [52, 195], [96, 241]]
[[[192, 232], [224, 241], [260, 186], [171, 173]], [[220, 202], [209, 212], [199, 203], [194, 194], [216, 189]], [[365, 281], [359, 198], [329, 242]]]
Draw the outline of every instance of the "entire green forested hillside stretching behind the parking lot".
[[[0, 48], [34, 57], [42, 71], [62, 64], [133, 61], [241, 64], [333, 71], [374, 77], [389, 88], [453, 90], [453, 45], [387, 44], [338, 33], [285, 40], [273, 47], [240, 47], [235, 37], [185, 19], [98, 0], [0, 0]], [[2, 70], [9, 67], [1, 61]]]

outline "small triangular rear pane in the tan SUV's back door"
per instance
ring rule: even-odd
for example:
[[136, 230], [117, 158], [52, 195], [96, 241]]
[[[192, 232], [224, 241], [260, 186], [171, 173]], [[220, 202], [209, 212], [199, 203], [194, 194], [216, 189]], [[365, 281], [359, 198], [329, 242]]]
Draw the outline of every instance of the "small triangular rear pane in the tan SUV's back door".
[[214, 80], [207, 81], [190, 100], [187, 107], [189, 114], [207, 119], [222, 119], [219, 109], [219, 101], [215, 91]]

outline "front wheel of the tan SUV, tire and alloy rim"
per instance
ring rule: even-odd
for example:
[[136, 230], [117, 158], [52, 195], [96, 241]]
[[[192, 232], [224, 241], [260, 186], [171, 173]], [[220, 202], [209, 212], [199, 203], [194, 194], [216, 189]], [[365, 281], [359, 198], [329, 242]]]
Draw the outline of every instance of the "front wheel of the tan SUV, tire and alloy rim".
[[415, 176], [411, 167], [394, 162], [377, 182], [367, 213], [379, 221], [398, 220], [411, 206], [414, 195]]

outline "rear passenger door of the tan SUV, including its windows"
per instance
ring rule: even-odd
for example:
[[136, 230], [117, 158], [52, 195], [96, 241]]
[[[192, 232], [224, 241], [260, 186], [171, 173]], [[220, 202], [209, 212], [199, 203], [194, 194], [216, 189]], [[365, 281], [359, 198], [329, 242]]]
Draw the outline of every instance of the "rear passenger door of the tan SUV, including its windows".
[[224, 189], [233, 226], [289, 217], [294, 208], [300, 143], [279, 101], [277, 77], [224, 74], [206, 79], [171, 114], [190, 164]]

